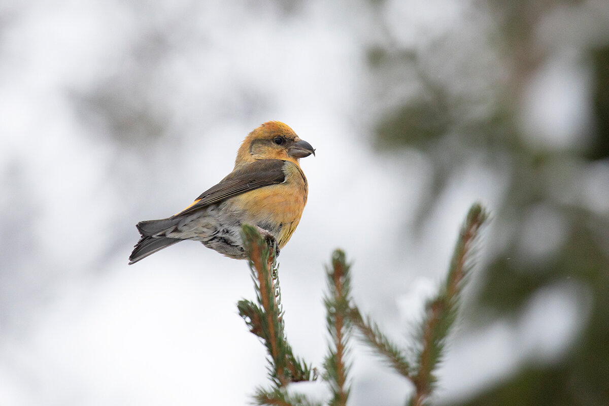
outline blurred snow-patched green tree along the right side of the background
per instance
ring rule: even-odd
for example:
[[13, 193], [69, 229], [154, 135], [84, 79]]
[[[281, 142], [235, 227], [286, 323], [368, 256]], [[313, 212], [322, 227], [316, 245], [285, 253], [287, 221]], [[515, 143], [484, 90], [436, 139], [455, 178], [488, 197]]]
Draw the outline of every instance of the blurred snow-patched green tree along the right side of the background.
[[[474, 1], [471, 24], [415, 47], [392, 37], [389, 13], [378, 7], [386, 35], [367, 52], [375, 145], [381, 153], [415, 149], [432, 163], [418, 225], [464, 166], [505, 180], [470, 326], [517, 318], [557, 285], [586, 303], [579, 336], [557, 360], [524, 362], [473, 399], [447, 405], [609, 404], [608, 9]], [[565, 92], [563, 110], [556, 89]], [[552, 121], [556, 113], [544, 111], [569, 117]]]

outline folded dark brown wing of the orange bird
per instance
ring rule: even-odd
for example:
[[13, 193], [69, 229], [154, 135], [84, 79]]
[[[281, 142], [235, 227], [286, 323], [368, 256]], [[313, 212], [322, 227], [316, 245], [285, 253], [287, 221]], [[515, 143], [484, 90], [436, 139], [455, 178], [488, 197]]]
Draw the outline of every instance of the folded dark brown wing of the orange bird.
[[281, 159], [261, 159], [234, 170], [216, 186], [212, 186], [203, 192], [192, 205], [175, 214], [174, 217], [191, 214], [205, 206], [253, 191], [259, 187], [283, 183], [286, 180], [286, 174], [283, 172], [285, 163]]

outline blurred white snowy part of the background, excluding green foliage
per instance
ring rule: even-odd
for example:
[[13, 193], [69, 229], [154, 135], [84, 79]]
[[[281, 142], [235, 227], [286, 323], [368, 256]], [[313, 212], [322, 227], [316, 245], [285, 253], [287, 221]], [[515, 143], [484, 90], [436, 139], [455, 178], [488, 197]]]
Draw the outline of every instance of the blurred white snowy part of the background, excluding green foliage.
[[[397, 44], [419, 51], [455, 27], [492, 27], [473, 2], [451, 0], [0, 4], [1, 405], [241, 405], [267, 384], [264, 347], [236, 310], [255, 297], [244, 261], [194, 242], [127, 259], [136, 222], [191, 203], [269, 120], [317, 149], [301, 160], [309, 203], [280, 256], [295, 353], [322, 363], [324, 265], [337, 247], [353, 262], [357, 303], [406, 337], [468, 207], [501, 204], [507, 164], [464, 163], [423, 232], [409, 233], [431, 164], [414, 150], [371, 147], [383, 105], [363, 47], [388, 35], [371, 7], [385, 7]], [[501, 75], [490, 45], [470, 35], [470, 54]], [[571, 133], [589, 107], [585, 69], [559, 56], [521, 118], [538, 134], [530, 142], [561, 147], [578, 142]], [[439, 65], [430, 63], [449, 77]], [[395, 97], [407, 91], [396, 86]], [[489, 251], [501, 240], [494, 233], [491, 225]], [[550, 234], [542, 254], [560, 239]], [[532, 355], [551, 362], [581, 327], [578, 289], [540, 293], [513, 323], [457, 331], [439, 400], [471, 396]], [[353, 405], [403, 404], [410, 386], [370, 351], [356, 345], [353, 361]], [[294, 386], [326, 393], [323, 383]]]

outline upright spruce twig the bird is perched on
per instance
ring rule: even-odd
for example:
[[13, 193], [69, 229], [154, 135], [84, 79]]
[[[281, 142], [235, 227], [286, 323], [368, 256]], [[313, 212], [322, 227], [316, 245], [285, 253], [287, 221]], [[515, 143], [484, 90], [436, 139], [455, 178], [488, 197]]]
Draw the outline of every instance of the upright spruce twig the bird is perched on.
[[242, 239], [257, 304], [244, 299], [237, 308], [250, 332], [260, 337], [267, 348], [270, 379], [276, 389], [285, 388], [289, 382], [316, 379], [311, 366], [295, 357], [287, 343], [275, 247], [269, 247], [258, 230], [249, 225], [242, 227]]

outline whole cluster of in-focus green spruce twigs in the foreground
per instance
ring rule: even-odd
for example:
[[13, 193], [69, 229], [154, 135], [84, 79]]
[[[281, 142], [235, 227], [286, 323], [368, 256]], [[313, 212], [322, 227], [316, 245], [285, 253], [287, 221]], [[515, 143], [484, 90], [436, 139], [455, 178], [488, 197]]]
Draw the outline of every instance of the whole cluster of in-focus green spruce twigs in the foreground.
[[[401, 349], [392, 343], [370, 317], [362, 317], [351, 298], [350, 265], [345, 261], [342, 251], [334, 251], [331, 267], [326, 268], [328, 294], [324, 298], [330, 340], [328, 355], [323, 363], [323, 377], [333, 392], [330, 405], [345, 406], [350, 393], [350, 365], [345, 359], [348, 357], [348, 340], [353, 326], [359, 331], [362, 341], [414, 384], [415, 393], [408, 404], [427, 404], [434, 389], [433, 373], [442, 358], [446, 338], [457, 317], [460, 294], [471, 270], [474, 244], [486, 219], [487, 213], [480, 205], [471, 207], [460, 229], [448, 275], [437, 295], [426, 304], [418, 340], [407, 349]], [[264, 341], [269, 354], [269, 376], [274, 384], [270, 390], [258, 388], [254, 401], [258, 405], [319, 406], [304, 395], [287, 393], [288, 383], [315, 380], [317, 371], [297, 359], [287, 343], [275, 247], [269, 247], [258, 230], [251, 226], [243, 227], [242, 237], [252, 271], [257, 303], [239, 301], [239, 314], [244, 318], [250, 332]], [[407, 354], [412, 356], [407, 357]]]

